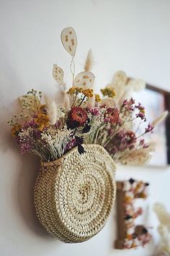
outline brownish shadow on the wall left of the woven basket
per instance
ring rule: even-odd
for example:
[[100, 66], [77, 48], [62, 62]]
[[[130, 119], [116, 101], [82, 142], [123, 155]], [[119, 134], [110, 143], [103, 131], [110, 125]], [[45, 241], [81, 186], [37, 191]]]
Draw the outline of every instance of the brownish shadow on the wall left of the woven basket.
[[51, 239], [37, 219], [34, 204], [34, 187], [40, 169], [40, 159], [35, 155], [23, 155], [22, 168], [17, 180], [17, 199], [24, 223], [38, 236]]

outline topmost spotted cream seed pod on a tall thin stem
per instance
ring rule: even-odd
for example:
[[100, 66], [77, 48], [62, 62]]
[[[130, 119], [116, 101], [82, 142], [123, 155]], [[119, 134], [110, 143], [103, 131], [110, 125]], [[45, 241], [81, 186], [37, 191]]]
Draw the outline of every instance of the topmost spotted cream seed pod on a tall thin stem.
[[74, 56], [77, 48], [77, 37], [73, 27], [67, 27], [61, 32], [61, 42], [68, 54]]

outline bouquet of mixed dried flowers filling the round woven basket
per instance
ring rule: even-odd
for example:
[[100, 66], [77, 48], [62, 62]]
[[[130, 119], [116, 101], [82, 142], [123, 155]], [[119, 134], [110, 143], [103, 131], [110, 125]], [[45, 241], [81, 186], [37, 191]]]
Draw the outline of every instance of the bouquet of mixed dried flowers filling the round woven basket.
[[148, 123], [143, 134], [138, 135], [133, 122], [138, 121], [138, 127], [146, 122], [145, 108], [130, 98], [132, 90], [145, 88], [145, 82], [116, 72], [112, 83], [101, 90], [101, 98], [93, 89], [91, 51], [84, 72], [74, 77], [77, 38], [72, 27], [63, 30], [61, 40], [72, 56], [72, 87], [66, 92], [63, 69], [54, 64], [53, 77], [63, 87], [63, 106], [33, 89], [20, 98], [22, 112], [13, 116], [9, 124], [21, 153], [30, 152], [39, 155], [42, 161], [54, 161], [76, 146], [83, 151], [84, 143], [102, 145], [114, 161], [123, 164], [140, 165], [148, 161], [154, 148], [143, 140], [143, 135], [152, 132], [157, 121]]

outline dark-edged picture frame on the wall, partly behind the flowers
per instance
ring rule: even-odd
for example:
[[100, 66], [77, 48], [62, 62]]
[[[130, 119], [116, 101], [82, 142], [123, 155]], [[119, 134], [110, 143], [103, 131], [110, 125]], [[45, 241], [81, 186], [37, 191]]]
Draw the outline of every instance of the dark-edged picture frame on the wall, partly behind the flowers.
[[[153, 85], [146, 85], [146, 89], [140, 93], [134, 93], [136, 102], [141, 102], [146, 108], [146, 118], [153, 121], [163, 111], [170, 111], [170, 93]], [[144, 124], [141, 129], [144, 129]], [[170, 164], [170, 116], [153, 129], [153, 135], [146, 135], [149, 139], [157, 142], [156, 151], [153, 152], [149, 166], [167, 166]]]

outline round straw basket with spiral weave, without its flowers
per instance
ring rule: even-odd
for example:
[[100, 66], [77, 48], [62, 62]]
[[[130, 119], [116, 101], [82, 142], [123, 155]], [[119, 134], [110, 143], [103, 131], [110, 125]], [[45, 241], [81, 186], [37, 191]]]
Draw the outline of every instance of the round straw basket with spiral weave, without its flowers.
[[115, 163], [102, 146], [83, 145], [41, 164], [35, 184], [37, 217], [48, 233], [67, 243], [84, 242], [107, 221], [115, 201]]

